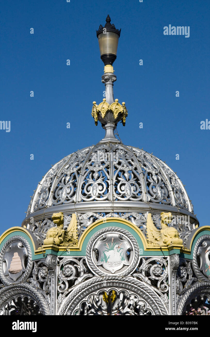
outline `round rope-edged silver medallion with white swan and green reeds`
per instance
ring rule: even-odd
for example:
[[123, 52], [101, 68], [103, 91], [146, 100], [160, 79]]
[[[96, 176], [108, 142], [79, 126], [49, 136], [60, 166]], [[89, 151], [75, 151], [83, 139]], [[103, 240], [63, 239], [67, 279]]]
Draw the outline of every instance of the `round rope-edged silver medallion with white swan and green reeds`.
[[96, 232], [87, 249], [88, 267], [96, 275], [129, 275], [139, 263], [139, 246], [125, 229], [107, 227]]

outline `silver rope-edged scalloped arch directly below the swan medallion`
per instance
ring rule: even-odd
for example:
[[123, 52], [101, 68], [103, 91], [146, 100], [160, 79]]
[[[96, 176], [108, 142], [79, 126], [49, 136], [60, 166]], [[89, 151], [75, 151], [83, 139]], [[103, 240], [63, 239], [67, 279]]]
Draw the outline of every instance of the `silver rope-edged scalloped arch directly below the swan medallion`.
[[[116, 293], [116, 303], [115, 301], [113, 302], [111, 310], [113, 315], [115, 313], [126, 315], [142, 315], [142, 313], [167, 315], [168, 313], [162, 299], [146, 283], [133, 277], [119, 279], [116, 276], [109, 276], [103, 278], [93, 277], [76, 287], [66, 297], [58, 314], [108, 314], [109, 308], [107, 308], [106, 302], [103, 301], [103, 293], [110, 294], [113, 290]], [[96, 298], [99, 301], [98, 309], [95, 306]]]

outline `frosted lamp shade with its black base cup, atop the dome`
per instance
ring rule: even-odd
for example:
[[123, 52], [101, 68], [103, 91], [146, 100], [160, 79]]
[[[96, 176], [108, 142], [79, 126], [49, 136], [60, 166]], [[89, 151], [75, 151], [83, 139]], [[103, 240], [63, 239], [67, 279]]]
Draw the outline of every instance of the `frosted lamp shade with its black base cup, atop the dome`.
[[104, 65], [113, 64], [117, 57], [119, 34], [107, 31], [106, 34], [98, 34], [98, 43], [101, 60]]

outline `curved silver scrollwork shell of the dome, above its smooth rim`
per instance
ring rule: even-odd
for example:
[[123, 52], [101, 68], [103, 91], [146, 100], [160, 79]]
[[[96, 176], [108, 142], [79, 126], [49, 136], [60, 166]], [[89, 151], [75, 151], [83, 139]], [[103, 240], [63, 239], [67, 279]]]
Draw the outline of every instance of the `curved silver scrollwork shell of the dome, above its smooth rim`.
[[56, 163], [38, 183], [27, 214], [93, 201], [132, 201], [137, 207], [149, 202], [193, 212], [182, 182], [167, 164], [138, 148], [101, 144]]

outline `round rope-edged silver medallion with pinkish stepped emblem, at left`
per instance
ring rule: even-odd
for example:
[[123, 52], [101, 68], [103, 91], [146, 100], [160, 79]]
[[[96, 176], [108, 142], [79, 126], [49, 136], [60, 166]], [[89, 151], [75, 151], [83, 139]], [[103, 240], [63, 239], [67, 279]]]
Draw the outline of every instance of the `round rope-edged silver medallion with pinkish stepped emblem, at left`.
[[13, 236], [0, 251], [0, 279], [3, 284], [27, 280], [32, 269], [31, 248], [23, 237]]

